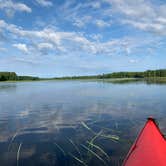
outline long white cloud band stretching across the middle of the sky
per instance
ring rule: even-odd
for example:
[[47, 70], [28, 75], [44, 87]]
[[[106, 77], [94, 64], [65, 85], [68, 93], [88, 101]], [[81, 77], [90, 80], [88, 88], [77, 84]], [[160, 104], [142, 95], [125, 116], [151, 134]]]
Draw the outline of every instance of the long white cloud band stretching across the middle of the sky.
[[[123, 37], [101, 41], [94, 40], [92, 36], [84, 35], [80, 32], [64, 32], [53, 28], [43, 28], [40, 30], [25, 30], [14, 24], [8, 24], [4, 20], [0, 20], [0, 29], [8, 34], [11, 41], [19, 44], [13, 46], [24, 51], [31, 51], [38, 54], [48, 54], [49, 51], [58, 52], [58, 54], [88, 54], [88, 55], [131, 55], [138, 52], [146, 46], [154, 46], [154, 39], [142, 39], [135, 37]], [[28, 44], [21, 44], [25, 43]], [[158, 42], [155, 39], [155, 42]], [[38, 43], [38, 44], [36, 44]], [[145, 50], [144, 50], [145, 51]]]

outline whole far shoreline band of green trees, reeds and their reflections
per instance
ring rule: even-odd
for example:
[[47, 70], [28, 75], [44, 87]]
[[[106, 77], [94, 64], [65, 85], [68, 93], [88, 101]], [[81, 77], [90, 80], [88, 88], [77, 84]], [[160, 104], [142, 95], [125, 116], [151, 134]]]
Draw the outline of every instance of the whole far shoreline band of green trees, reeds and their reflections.
[[0, 72], [0, 81], [40, 81], [40, 80], [80, 80], [80, 79], [99, 79], [106, 81], [140, 81], [147, 82], [166, 82], [166, 69], [147, 70], [144, 72], [113, 72], [99, 75], [88, 76], [65, 76], [65, 77], [52, 77], [40, 78], [34, 76], [18, 76], [15, 72]]

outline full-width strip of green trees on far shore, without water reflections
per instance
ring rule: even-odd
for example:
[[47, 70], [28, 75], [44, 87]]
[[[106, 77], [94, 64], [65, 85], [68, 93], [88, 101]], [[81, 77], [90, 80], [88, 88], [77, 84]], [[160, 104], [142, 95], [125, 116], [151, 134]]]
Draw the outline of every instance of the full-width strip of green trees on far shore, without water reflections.
[[71, 76], [55, 78], [39, 78], [32, 76], [18, 76], [15, 72], [0, 72], [0, 81], [35, 81], [35, 80], [67, 80], [67, 79], [108, 79], [108, 78], [154, 78], [166, 77], [166, 69], [147, 70], [144, 72], [114, 72], [108, 74], [91, 75], [91, 76]]

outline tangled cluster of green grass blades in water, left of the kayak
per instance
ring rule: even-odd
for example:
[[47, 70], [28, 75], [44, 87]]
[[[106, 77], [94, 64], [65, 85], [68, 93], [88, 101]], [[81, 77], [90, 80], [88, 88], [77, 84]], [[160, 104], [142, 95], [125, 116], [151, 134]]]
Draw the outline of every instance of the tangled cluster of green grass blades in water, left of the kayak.
[[63, 149], [63, 147], [56, 142], [54, 142], [54, 144], [63, 153], [64, 156], [69, 155], [81, 165], [89, 165], [94, 161], [94, 158], [98, 159], [101, 163], [103, 163], [103, 165], [108, 165], [111, 161], [111, 157], [107, 154], [106, 151], [104, 151], [101, 146], [99, 146], [99, 144], [96, 143], [96, 140], [108, 139], [117, 142], [119, 140], [119, 137], [117, 135], [107, 134], [108, 130], [106, 131], [103, 128], [99, 132], [97, 132], [85, 122], [81, 122], [81, 125], [90, 133], [90, 135], [88, 135], [88, 139], [84, 140], [81, 143], [81, 148], [70, 138], [67, 138], [67, 142], [73, 146], [74, 151], [73, 149], [71, 151], [65, 151], [65, 149]]

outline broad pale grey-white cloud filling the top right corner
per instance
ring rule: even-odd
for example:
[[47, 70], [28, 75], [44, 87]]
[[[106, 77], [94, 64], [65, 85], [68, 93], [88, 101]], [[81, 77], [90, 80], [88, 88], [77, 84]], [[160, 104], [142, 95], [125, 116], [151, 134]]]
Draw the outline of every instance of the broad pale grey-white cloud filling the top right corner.
[[[104, 0], [112, 5], [112, 12], [120, 14], [122, 24], [159, 35], [166, 35], [166, 5], [147, 0]], [[108, 13], [107, 13], [108, 14]]]

